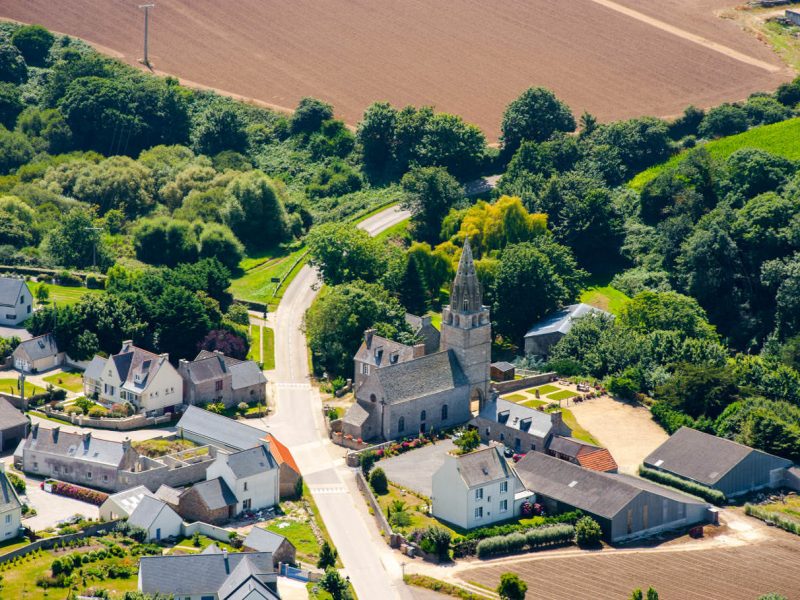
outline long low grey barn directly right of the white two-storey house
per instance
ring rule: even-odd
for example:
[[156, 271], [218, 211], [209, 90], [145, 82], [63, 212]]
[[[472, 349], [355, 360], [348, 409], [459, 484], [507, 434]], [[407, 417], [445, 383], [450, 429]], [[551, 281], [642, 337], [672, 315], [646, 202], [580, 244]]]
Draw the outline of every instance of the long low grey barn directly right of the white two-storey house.
[[539, 452], [527, 454], [515, 468], [549, 512], [580, 509], [612, 542], [708, 519], [705, 502], [638, 477], [584, 469]]

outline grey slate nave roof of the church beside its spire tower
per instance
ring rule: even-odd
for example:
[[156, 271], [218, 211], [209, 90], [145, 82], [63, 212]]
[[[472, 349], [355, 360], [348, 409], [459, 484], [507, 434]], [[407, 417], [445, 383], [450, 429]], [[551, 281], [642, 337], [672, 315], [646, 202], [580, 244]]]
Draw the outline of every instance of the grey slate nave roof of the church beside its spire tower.
[[375, 377], [390, 404], [469, 385], [455, 353], [449, 350], [377, 369]]

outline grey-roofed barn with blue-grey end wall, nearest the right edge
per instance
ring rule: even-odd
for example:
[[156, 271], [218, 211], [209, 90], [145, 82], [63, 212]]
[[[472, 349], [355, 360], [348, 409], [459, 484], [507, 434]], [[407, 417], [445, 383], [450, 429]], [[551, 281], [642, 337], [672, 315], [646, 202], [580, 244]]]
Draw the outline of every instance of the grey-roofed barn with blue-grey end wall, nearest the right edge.
[[792, 461], [681, 427], [644, 459], [644, 465], [731, 497], [783, 485]]

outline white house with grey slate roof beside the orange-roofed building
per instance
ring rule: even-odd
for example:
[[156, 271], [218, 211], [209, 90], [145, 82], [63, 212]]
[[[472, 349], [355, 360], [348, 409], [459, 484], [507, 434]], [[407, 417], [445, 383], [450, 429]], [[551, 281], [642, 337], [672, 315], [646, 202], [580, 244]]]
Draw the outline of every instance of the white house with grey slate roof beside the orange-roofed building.
[[280, 470], [264, 441], [233, 454], [220, 453], [206, 478], [220, 477], [236, 496], [236, 513], [275, 506], [280, 499]]

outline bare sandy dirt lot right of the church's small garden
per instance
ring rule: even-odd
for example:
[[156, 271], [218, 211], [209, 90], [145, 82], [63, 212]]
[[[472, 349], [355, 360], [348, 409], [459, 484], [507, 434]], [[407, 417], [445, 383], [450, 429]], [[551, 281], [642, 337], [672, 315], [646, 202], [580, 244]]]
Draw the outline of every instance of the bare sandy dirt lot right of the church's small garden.
[[620, 472], [636, 473], [642, 460], [669, 437], [650, 411], [603, 396], [569, 409], [578, 423], [604, 447], [619, 465]]

